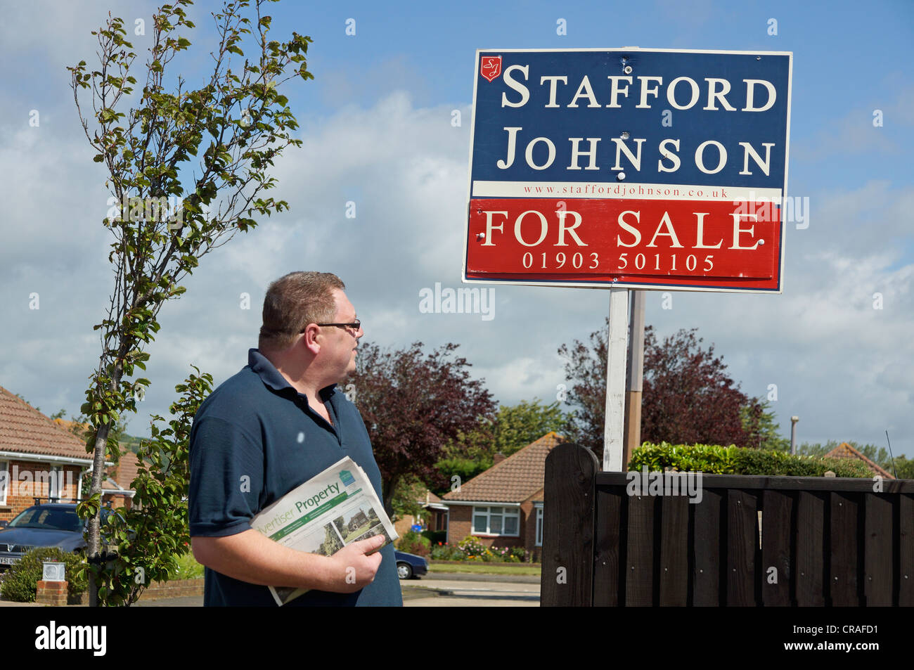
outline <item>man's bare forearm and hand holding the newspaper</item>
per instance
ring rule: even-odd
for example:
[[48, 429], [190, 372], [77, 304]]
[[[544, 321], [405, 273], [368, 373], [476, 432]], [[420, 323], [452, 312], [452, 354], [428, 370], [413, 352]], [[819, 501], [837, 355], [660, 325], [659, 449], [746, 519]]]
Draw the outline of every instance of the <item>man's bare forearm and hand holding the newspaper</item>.
[[190, 539], [197, 561], [236, 580], [335, 593], [352, 593], [370, 584], [381, 554], [366, 554], [384, 544], [384, 537], [369, 537], [325, 557], [283, 547], [253, 528], [236, 535]]

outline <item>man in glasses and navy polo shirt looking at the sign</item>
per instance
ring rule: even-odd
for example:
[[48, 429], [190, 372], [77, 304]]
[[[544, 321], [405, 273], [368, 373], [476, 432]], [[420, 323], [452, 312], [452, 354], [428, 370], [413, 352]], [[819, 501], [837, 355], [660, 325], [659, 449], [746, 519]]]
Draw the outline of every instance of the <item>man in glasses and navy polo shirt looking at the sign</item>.
[[[275, 605], [266, 585], [311, 589], [285, 607], [402, 605], [394, 548], [383, 537], [332, 557], [282, 547], [250, 518], [350, 456], [381, 496], [358, 409], [335, 389], [356, 369], [364, 335], [330, 272], [272, 282], [248, 365], [200, 405], [190, 433], [190, 535], [207, 567], [205, 605]], [[372, 553], [374, 552], [374, 553]]]

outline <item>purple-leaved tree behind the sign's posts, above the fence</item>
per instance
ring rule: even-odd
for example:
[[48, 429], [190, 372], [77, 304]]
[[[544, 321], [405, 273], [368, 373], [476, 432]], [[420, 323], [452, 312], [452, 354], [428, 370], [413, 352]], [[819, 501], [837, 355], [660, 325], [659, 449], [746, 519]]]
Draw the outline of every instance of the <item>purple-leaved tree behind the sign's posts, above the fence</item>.
[[[642, 440], [758, 446], [742, 420], [743, 408], [755, 403], [727, 376], [714, 346], [702, 348], [696, 330], [680, 329], [659, 343], [652, 326], [644, 329]], [[592, 333], [590, 348], [575, 340], [570, 349], [558, 349], [566, 358], [566, 377], [574, 382], [569, 401], [578, 405], [566, 427], [568, 437], [598, 455], [606, 399], [605, 333]]]

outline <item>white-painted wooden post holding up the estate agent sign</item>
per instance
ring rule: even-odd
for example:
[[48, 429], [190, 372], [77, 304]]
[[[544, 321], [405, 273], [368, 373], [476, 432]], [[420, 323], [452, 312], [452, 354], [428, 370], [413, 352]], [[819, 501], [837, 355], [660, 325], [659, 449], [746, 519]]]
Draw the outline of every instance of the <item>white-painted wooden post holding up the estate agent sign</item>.
[[604, 472], [622, 472], [623, 467], [628, 293], [628, 289], [610, 289], [610, 332], [606, 338], [606, 419], [603, 426]]

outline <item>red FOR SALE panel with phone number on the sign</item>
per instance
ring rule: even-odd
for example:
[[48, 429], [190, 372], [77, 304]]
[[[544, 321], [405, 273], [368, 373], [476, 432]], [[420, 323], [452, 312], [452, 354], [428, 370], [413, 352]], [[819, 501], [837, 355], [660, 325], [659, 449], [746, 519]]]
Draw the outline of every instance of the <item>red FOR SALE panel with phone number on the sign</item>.
[[771, 202], [473, 198], [468, 280], [777, 290]]

